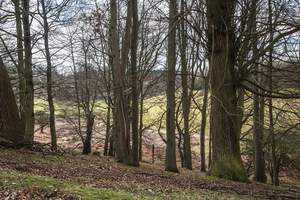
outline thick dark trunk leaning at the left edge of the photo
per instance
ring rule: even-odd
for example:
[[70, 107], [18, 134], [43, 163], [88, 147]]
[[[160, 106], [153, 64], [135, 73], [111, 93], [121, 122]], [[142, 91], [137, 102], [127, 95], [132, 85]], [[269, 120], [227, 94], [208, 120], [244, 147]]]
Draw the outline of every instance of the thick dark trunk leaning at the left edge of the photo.
[[12, 142], [24, 140], [10, 79], [0, 57], [0, 137]]

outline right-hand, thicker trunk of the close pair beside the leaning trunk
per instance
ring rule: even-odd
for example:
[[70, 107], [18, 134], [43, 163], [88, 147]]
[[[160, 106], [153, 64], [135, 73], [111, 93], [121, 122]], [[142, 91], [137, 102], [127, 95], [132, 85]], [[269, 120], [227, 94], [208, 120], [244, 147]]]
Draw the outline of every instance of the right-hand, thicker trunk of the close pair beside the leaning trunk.
[[31, 53], [31, 35], [29, 19], [29, 0], [22, 0], [22, 21], [24, 30], [24, 77], [25, 77], [25, 96], [26, 96], [26, 127], [25, 137], [29, 143], [33, 142], [34, 137], [34, 111], [33, 111], [33, 76], [32, 76], [32, 53]]

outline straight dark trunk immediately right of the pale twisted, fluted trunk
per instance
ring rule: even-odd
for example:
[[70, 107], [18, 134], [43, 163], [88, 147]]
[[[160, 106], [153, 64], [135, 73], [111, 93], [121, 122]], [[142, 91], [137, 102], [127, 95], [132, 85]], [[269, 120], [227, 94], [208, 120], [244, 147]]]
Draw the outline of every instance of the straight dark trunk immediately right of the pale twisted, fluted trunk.
[[132, 0], [132, 33], [131, 33], [131, 131], [132, 131], [132, 158], [133, 165], [139, 166], [138, 162], [138, 90], [137, 90], [137, 37], [138, 37], [138, 12], [137, 0]]

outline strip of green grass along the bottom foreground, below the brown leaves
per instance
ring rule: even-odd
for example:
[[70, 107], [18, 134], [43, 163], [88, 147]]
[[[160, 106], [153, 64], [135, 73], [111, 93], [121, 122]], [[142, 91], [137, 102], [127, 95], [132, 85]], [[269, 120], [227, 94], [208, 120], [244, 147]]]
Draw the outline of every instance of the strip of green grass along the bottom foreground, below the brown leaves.
[[[208, 192], [197, 191], [190, 193], [191, 191], [182, 190], [172, 192], [172, 189], [164, 192], [153, 192], [150, 188], [146, 188], [145, 185], [129, 183], [127, 187], [136, 188], [142, 191], [126, 191], [126, 190], [114, 190], [101, 187], [95, 187], [92, 185], [82, 185], [75, 182], [63, 181], [56, 178], [50, 178], [45, 176], [36, 176], [22, 174], [12, 170], [0, 171], [0, 186], [3, 188], [9, 188], [13, 190], [23, 190], [34, 196], [38, 196], [40, 191], [50, 194], [59, 195], [62, 197], [73, 196], [77, 199], [207, 199], [207, 197], [218, 196], [218, 199], [242, 199], [241, 196], [235, 196], [232, 198], [232, 194], [220, 195], [220, 192]], [[114, 184], [120, 184], [114, 182]], [[121, 183], [124, 184], [124, 183]], [[127, 184], [127, 183], [125, 183]]]

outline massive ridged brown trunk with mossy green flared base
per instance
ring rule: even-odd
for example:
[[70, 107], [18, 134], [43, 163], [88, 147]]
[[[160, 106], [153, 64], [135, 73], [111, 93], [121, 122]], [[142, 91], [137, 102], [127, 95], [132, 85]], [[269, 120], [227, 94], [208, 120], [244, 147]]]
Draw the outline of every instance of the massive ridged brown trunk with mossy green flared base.
[[236, 125], [237, 85], [234, 69], [234, 32], [231, 26], [235, 2], [206, 1], [212, 136], [212, 158], [208, 174], [249, 182], [242, 165]]

